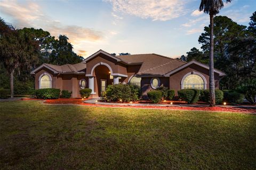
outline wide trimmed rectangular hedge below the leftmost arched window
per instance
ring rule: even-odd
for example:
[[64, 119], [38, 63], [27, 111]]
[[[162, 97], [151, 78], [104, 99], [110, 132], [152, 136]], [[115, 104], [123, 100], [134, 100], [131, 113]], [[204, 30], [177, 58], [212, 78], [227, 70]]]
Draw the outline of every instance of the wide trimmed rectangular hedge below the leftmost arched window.
[[60, 97], [60, 89], [37, 89], [35, 95], [38, 99], [58, 99]]

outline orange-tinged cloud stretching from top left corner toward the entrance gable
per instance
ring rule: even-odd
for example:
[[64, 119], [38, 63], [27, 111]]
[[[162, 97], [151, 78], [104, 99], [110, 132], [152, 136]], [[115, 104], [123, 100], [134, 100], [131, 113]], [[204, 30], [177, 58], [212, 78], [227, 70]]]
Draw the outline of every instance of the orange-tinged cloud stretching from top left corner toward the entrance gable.
[[[86, 54], [84, 50], [76, 48], [81, 47], [79, 44], [98, 42], [105, 37], [101, 31], [77, 25], [66, 25], [62, 24], [61, 21], [54, 21], [50, 16], [42, 12], [41, 7], [35, 2], [20, 3], [17, 1], [2, 1], [0, 8], [1, 14], [5, 14], [12, 19], [14, 27], [42, 28], [45, 31], [49, 31], [55, 37], [66, 35], [70, 43], [75, 45], [74, 50], [79, 55]], [[82, 51], [84, 52], [82, 53]]]

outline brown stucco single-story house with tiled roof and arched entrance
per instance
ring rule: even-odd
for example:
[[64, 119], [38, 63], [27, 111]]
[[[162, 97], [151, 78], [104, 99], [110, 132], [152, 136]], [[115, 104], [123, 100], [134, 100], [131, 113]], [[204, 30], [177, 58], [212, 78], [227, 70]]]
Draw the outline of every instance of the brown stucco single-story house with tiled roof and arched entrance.
[[[209, 89], [209, 65], [195, 60], [183, 62], [158, 54], [113, 56], [103, 50], [78, 64], [42, 64], [31, 74], [35, 89], [58, 88], [72, 91], [73, 98], [80, 97], [79, 90], [92, 89], [91, 97], [99, 97], [109, 84], [135, 84], [141, 88], [142, 97], [147, 92], [164, 86], [174, 89]], [[215, 88], [225, 73], [215, 69]]]

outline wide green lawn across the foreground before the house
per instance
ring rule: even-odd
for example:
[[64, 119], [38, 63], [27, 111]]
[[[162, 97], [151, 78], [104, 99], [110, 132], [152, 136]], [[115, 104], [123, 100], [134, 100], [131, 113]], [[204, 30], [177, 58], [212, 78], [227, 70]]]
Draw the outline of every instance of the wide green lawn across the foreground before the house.
[[256, 115], [2, 102], [1, 169], [255, 169]]

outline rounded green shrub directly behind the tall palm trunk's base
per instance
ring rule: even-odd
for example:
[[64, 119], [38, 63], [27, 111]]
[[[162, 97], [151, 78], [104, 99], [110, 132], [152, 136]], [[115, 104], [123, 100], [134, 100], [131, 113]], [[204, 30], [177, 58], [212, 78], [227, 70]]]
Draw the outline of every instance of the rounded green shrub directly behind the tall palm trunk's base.
[[[210, 90], [200, 90], [200, 100], [210, 103]], [[220, 104], [223, 100], [223, 91], [215, 89], [215, 103]]]

